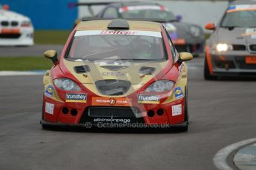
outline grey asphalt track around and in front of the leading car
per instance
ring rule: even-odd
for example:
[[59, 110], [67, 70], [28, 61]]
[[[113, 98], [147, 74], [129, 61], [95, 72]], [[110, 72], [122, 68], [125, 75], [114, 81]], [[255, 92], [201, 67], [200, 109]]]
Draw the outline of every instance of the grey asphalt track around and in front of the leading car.
[[211, 170], [220, 149], [256, 135], [256, 80], [204, 81], [203, 58], [189, 65], [188, 132], [43, 130], [42, 75], [0, 82], [1, 170]]

